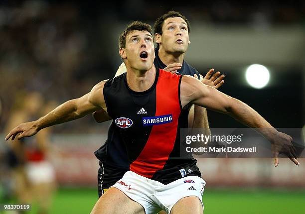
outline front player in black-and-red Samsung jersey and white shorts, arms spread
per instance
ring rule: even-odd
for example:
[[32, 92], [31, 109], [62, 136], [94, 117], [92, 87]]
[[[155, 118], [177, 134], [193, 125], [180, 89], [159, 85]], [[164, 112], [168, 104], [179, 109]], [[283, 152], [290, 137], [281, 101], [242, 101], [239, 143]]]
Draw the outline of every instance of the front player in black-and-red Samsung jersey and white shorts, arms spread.
[[[202, 214], [205, 182], [196, 160], [191, 154], [179, 156], [177, 147], [180, 117], [189, 104], [228, 114], [258, 128], [271, 142], [275, 166], [279, 153], [299, 165], [292, 138], [277, 131], [253, 108], [192, 76], [155, 68], [150, 25], [139, 21], [128, 25], [120, 36], [119, 52], [127, 68], [125, 74], [101, 81], [88, 94], [65, 102], [35, 121], [21, 123], [5, 137], [29, 137], [45, 127], [103, 108], [120, 130], [131, 171], [100, 197], [92, 214], [154, 214], [162, 209], [170, 214]], [[147, 116], [137, 113], [142, 108]], [[179, 170], [180, 175], [176, 170], [180, 166], [194, 171], [181, 178], [188, 170]]]

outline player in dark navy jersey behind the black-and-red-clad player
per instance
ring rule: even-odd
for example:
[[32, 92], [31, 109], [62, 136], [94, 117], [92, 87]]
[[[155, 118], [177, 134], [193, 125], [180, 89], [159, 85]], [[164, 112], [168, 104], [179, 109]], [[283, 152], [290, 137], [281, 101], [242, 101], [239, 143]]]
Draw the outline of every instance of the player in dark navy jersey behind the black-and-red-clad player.
[[[157, 45], [154, 50], [154, 66], [176, 74], [199, 77], [199, 72], [184, 60], [184, 54], [190, 44], [189, 32], [189, 21], [181, 13], [169, 11], [160, 16], [154, 24], [154, 36]], [[220, 75], [220, 72], [212, 75], [213, 71], [214, 69], [210, 69], [204, 78], [201, 75], [200, 78], [204, 84], [218, 89], [224, 83], [224, 75]], [[115, 76], [125, 72], [126, 66], [123, 62]], [[186, 111], [189, 111], [188, 126], [203, 128], [205, 134], [209, 135], [206, 108], [191, 106]], [[139, 113], [145, 114], [146, 111], [140, 111]], [[94, 112], [93, 116], [98, 122], [109, 120], [109, 116], [103, 110]], [[100, 160], [98, 170], [99, 197], [130, 170], [124, 142], [120, 134], [117, 133], [118, 130], [115, 126], [112, 122], [108, 130], [107, 141], [95, 152], [96, 157]]]

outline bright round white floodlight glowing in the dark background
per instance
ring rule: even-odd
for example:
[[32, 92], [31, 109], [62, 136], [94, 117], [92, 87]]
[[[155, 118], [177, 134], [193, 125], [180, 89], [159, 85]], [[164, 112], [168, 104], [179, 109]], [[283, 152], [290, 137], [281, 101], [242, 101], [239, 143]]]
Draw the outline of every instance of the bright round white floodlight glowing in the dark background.
[[259, 64], [250, 65], [246, 71], [246, 80], [250, 86], [256, 89], [264, 88], [270, 79], [268, 69]]

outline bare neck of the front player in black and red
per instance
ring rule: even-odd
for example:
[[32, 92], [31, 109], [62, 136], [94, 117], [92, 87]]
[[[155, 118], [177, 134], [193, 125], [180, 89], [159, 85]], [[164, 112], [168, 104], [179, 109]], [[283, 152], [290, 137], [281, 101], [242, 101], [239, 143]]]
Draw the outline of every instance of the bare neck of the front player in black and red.
[[146, 72], [127, 69], [126, 78], [128, 87], [134, 92], [144, 92], [152, 87], [155, 74], [156, 69], [154, 66]]

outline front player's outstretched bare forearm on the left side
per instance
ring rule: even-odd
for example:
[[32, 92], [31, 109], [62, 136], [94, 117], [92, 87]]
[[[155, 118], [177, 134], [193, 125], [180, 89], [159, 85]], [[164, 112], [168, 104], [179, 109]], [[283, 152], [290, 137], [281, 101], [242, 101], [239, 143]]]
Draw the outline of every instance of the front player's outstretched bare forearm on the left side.
[[56, 107], [51, 112], [35, 121], [37, 129], [46, 128], [55, 124], [78, 119], [86, 115], [85, 111], [80, 111], [77, 106], [77, 99], [70, 100]]

